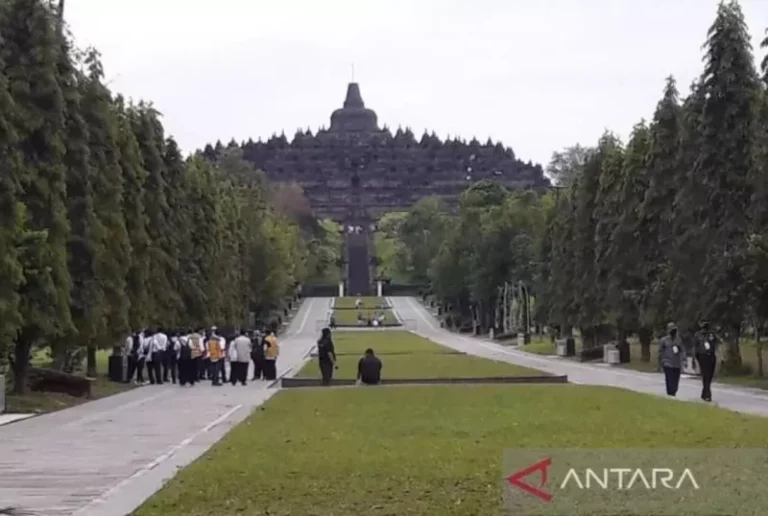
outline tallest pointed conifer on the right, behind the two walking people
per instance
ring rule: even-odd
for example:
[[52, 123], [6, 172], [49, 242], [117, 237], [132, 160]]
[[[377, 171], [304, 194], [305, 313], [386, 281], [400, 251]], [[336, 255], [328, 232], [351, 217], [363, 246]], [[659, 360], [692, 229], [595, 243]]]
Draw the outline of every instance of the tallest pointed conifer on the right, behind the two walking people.
[[693, 177], [706, 197], [695, 225], [706, 228], [701, 314], [728, 331], [726, 364], [741, 366], [739, 333], [747, 282], [743, 277], [750, 228], [759, 82], [744, 16], [738, 3], [718, 7], [709, 30], [703, 74], [701, 146]]

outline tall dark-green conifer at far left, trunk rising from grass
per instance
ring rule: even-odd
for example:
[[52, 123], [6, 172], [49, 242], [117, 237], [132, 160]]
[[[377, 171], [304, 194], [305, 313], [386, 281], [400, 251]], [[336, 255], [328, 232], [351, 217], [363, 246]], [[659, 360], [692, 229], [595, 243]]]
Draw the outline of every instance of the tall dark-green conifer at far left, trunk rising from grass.
[[32, 347], [69, 332], [71, 281], [67, 270], [65, 102], [59, 66], [62, 45], [56, 19], [39, 0], [9, 0], [0, 18], [0, 49], [8, 90], [18, 117], [16, 134], [24, 155], [20, 177], [26, 224], [21, 245], [25, 281], [20, 289], [24, 320], [14, 348], [14, 390], [26, 390]]

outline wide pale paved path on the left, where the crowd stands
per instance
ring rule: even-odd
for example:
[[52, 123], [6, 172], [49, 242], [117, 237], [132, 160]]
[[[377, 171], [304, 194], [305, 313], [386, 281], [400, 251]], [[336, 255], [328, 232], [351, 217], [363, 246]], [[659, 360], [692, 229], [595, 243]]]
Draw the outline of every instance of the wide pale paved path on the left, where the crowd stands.
[[[292, 374], [327, 311], [308, 299], [281, 338], [278, 375]], [[35, 516], [125, 516], [269, 399], [248, 386], [145, 386], [0, 427], [0, 508]]]

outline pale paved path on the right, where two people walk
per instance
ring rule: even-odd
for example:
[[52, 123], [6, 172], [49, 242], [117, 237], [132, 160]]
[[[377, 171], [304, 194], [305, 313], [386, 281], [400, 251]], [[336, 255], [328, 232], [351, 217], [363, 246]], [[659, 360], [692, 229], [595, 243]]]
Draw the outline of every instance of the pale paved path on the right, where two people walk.
[[[568, 375], [572, 383], [622, 387], [637, 392], [665, 396], [664, 378], [656, 373], [643, 373], [611, 366], [581, 364], [569, 359], [526, 353], [517, 349], [495, 344], [482, 339], [465, 337], [440, 328], [437, 320], [410, 297], [392, 297], [394, 309], [403, 320], [414, 322], [418, 335], [439, 344], [473, 355], [502, 360], [532, 367], [552, 374]], [[411, 328], [409, 328], [411, 329]], [[712, 395], [715, 404], [738, 412], [768, 416], [768, 393], [759, 389], [731, 387], [713, 384]], [[680, 381], [678, 399], [701, 401], [701, 381], [698, 378], [683, 378]]]

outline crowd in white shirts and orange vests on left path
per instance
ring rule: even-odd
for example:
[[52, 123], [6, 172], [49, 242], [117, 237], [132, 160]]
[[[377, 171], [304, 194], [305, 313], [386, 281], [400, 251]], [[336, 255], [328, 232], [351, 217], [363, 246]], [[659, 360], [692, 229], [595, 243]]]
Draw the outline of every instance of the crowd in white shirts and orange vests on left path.
[[275, 380], [280, 347], [276, 328], [269, 331], [240, 330], [227, 339], [214, 326], [203, 329], [167, 331], [162, 328], [136, 332], [125, 340], [128, 381], [144, 385], [144, 369], [150, 384], [171, 381], [182, 386], [210, 380], [211, 385], [229, 382], [247, 384], [248, 366], [253, 362], [252, 380]]

